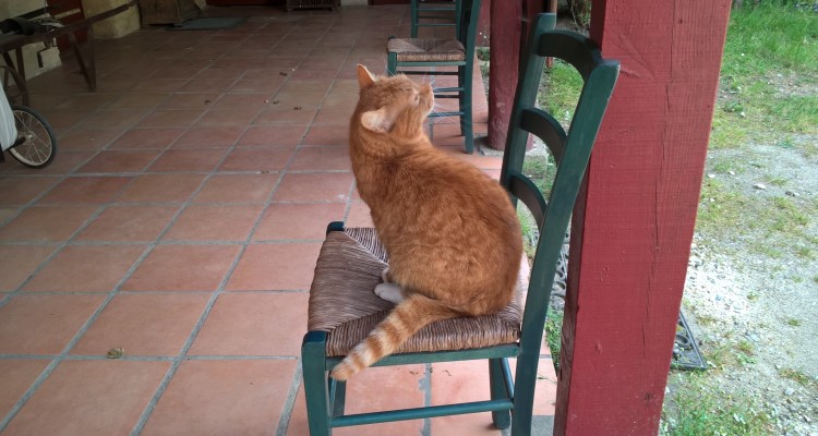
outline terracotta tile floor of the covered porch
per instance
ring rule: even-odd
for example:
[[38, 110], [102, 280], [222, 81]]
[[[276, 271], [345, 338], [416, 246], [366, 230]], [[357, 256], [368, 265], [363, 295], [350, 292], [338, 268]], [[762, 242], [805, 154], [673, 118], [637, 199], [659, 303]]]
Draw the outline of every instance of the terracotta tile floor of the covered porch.
[[[96, 93], [70, 60], [29, 81], [60, 148], [43, 170], [0, 165], [3, 435], [308, 434], [299, 347], [324, 228], [371, 225], [347, 152], [354, 65], [384, 68], [408, 8], [206, 12], [250, 19], [98, 41]], [[456, 121], [436, 120], [435, 143], [496, 175], [498, 157], [461, 153]], [[366, 371], [348, 410], [483, 399], [484, 366]], [[549, 359], [540, 372], [542, 421]], [[490, 423], [336, 434], [500, 435]]]

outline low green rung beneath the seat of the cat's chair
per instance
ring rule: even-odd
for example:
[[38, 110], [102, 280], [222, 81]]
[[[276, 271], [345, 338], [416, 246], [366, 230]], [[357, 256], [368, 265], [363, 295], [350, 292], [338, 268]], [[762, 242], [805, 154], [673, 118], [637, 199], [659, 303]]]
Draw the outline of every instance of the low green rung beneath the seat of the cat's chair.
[[431, 405], [428, 408], [390, 410], [386, 412], [359, 413], [333, 417], [329, 422], [333, 427], [348, 427], [351, 425], [377, 424], [383, 422], [418, 420], [423, 417], [437, 417], [447, 415], [461, 415], [467, 413], [500, 412], [514, 409], [510, 399], [465, 402], [461, 404]]

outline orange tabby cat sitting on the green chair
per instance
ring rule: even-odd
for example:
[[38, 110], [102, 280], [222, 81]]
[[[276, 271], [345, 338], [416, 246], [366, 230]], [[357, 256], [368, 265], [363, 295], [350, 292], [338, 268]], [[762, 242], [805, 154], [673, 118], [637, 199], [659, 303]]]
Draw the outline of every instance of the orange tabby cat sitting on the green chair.
[[358, 191], [389, 254], [381, 298], [397, 305], [335, 367], [345, 380], [425, 325], [491, 314], [514, 296], [522, 239], [508, 194], [423, 133], [434, 96], [404, 75], [358, 65], [349, 150]]

